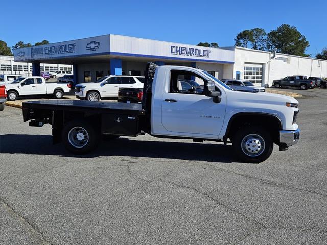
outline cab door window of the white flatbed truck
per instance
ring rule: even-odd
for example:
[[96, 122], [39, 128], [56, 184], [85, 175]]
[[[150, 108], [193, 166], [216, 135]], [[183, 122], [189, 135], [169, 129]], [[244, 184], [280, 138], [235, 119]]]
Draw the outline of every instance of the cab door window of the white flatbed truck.
[[[191, 71], [171, 70], [170, 93], [203, 94], [205, 80]], [[200, 85], [201, 84], [201, 85]]]

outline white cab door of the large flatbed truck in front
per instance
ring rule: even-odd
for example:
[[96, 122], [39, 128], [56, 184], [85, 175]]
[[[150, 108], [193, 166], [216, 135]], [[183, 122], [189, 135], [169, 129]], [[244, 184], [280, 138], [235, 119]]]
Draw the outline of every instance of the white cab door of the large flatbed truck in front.
[[162, 126], [169, 132], [181, 133], [181, 135], [218, 136], [225, 116], [225, 94], [222, 94], [220, 103], [215, 103], [211, 97], [203, 95], [203, 92], [180, 87], [180, 80], [191, 77], [201, 79], [203, 83], [206, 80], [195, 72], [171, 70], [170, 86], [167, 86], [167, 91], [164, 91], [162, 98]]

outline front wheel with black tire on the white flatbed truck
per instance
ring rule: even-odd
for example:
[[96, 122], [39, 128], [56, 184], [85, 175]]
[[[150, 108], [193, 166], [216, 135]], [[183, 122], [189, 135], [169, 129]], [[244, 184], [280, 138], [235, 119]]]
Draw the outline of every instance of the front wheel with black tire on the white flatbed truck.
[[232, 144], [236, 156], [248, 163], [265, 161], [271, 155], [274, 146], [269, 132], [260, 126], [239, 129], [232, 137]]

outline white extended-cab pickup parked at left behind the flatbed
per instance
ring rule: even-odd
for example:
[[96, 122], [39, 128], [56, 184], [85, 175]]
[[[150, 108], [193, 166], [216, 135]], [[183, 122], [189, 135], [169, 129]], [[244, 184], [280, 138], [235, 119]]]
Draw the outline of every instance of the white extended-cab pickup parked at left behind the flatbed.
[[53, 94], [56, 99], [61, 99], [70, 89], [69, 83], [45, 83], [43, 77], [18, 78], [6, 85], [8, 100], [17, 100], [22, 95]]

